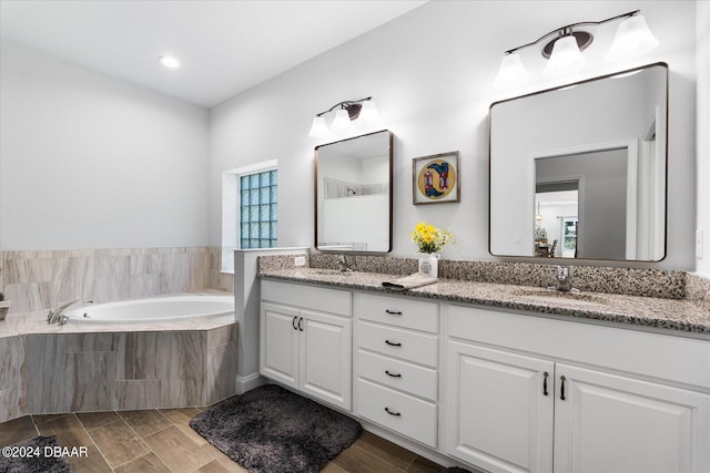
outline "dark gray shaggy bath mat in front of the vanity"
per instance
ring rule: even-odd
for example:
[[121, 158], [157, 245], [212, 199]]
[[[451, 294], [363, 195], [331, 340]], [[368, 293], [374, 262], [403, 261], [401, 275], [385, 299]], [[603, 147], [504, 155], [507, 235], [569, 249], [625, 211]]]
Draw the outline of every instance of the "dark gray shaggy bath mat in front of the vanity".
[[362, 432], [353, 419], [274, 384], [201, 412], [190, 426], [251, 473], [316, 473]]

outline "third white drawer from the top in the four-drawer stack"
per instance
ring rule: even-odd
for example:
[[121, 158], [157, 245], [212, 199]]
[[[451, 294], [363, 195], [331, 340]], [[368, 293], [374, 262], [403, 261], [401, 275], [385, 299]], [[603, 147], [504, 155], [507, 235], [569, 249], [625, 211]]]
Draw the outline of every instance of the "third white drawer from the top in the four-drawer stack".
[[389, 388], [436, 402], [436, 370], [357, 350], [357, 373]]

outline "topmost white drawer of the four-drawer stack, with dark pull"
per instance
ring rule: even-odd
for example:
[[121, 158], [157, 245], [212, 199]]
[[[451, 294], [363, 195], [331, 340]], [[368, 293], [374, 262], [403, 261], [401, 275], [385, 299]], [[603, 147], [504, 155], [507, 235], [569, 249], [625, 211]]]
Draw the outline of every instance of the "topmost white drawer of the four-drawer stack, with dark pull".
[[355, 294], [353, 305], [361, 319], [437, 333], [438, 305], [399, 297]]

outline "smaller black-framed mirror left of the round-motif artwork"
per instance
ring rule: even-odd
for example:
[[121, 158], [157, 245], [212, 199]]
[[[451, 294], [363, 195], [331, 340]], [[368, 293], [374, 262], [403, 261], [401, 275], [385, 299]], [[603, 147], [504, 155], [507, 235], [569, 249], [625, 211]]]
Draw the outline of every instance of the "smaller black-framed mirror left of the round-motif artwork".
[[392, 250], [392, 132], [315, 148], [315, 247]]

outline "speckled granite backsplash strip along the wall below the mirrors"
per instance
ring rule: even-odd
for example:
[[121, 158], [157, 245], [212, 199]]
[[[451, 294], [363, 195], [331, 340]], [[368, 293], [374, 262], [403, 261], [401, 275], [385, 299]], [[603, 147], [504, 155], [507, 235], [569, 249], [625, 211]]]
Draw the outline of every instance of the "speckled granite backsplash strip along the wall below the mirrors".
[[[273, 258], [273, 261], [272, 261]], [[284, 260], [283, 258], [286, 258]], [[306, 266], [337, 268], [336, 255], [312, 254]], [[361, 273], [409, 275], [417, 270], [416, 258], [389, 256], [347, 256], [353, 269]], [[263, 266], [262, 266], [263, 265]], [[291, 265], [291, 266], [288, 266]], [[547, 287], [555, 285], [557, 265], [503, 261], [439, 260], [439, 277], [479, 282], [510, 284], [516, 286]], [[260, 257], [260, 269], [293, 268], [293, 257]], [[686, 273], [677, 270], [613, 268], [600, 266], [569, 266], [574, 287], [591, 292], [686, 298]], [[698, 289], [699, 291], [701, 289]]]

